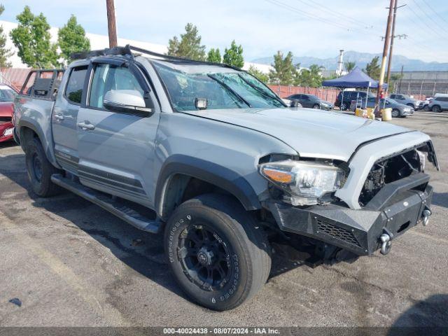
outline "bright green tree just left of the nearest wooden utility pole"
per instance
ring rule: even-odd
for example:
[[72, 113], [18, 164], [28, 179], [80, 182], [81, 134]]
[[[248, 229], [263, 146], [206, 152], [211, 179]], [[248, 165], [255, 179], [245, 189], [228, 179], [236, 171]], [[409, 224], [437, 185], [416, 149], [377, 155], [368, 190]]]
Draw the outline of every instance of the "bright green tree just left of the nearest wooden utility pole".
[[89, 51], [90, 41], [85, 37], [85, 30], [76, 22], [75, 15], [57, 32], [57, 43], [61, 49], [61, 57], [69, 62], [73, 52]]

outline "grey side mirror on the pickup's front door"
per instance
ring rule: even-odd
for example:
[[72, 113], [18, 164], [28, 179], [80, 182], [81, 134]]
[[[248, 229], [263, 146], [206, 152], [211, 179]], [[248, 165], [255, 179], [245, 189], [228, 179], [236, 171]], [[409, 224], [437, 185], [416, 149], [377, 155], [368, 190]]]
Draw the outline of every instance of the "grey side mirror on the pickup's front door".
[[137, 90], [111, 90], [104, 94], [103, 105], [112, 112], [149, 117], [153, 109], [146, 107], [145, 99]]

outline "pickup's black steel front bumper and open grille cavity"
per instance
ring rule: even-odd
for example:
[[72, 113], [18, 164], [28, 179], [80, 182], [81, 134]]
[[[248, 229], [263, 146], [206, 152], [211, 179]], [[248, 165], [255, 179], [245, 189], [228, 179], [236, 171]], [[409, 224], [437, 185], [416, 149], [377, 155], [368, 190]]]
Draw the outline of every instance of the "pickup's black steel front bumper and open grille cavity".
[[391, 241], [417, 225], [428, 223], [433, 188], [424, 173], [425, 155], [437, 167], [430, 141], [379, 158], [358, 193], [358, 209], [330, 195], [329, 204], [294, 206], [272, 197], [264, 206], [283, 232], [323, 241], [355, 255], [380, 249], [387, 254]]

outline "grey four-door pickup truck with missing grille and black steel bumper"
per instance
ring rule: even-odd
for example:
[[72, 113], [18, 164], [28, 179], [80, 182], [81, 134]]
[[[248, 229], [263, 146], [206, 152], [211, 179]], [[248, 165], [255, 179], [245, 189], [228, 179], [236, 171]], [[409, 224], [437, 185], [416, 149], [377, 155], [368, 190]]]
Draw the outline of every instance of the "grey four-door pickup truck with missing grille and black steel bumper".
[[232, 309], [262, 287], [272, 237], [347, 260], [428, 223], [423, 171], [438, 165], [426, 134], [288, 107], [224, 64], [129, 45], [75, 58], [32, 71], [15, 100], [34, 193], [67, 189], [165, 230], [175, 278], [204, 307]]

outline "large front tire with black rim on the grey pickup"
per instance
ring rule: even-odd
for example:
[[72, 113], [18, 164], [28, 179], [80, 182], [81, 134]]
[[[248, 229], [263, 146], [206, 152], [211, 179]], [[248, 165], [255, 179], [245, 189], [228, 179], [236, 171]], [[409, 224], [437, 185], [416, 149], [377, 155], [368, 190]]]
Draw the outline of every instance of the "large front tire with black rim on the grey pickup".
[[165, 228], [165, 252], [184, 292], [218, 311], [255, 295], [271, 268], [262, 229], [225, 195], [202, 195], [181, 204]]

